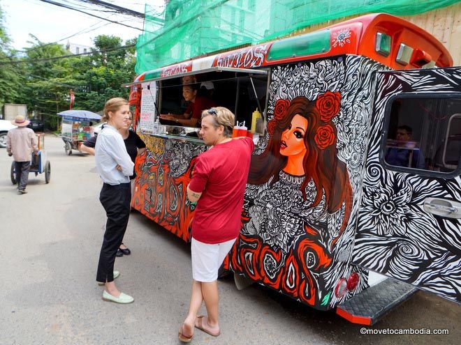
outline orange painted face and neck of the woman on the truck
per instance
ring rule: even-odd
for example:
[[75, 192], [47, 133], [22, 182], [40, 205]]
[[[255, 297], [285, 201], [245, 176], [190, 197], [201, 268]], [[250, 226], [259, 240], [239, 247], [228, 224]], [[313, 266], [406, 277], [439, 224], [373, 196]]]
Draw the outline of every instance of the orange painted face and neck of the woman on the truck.
[[289, 127], [281, 132], [280, 154], [281, 155], [304, 155], [306, 145], [304, 137], [307, 130], [307, 118], [296, 114], [293, 116]]

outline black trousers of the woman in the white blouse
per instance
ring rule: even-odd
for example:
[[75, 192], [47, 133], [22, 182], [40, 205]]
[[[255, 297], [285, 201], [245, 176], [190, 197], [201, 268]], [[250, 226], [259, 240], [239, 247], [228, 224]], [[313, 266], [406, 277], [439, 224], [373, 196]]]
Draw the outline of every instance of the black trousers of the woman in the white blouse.
[[105, 209], [108, 220], [105, 223], [105, 233], [101, 254], [99, 254], [98, 282], [112, 282], [114, 280], [115, 254], [122, 244], [126, 225], [130, 216], [131, 189], [130, 183], [108, 185], [104, 183], [99, 201]]

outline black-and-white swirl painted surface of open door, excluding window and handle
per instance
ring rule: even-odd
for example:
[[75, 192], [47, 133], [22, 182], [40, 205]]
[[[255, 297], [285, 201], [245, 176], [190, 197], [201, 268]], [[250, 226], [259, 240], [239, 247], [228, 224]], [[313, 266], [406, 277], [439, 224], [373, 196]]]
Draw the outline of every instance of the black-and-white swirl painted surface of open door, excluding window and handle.
[[459, 201], [460, 176], [430, 178], [381, 167], [386, 105], [402, 92], [460, 92], [461, 68], [381, 72], [376, 79], [353, 262], [461, 302], [461, 222], [424, 210], [428, 197]]

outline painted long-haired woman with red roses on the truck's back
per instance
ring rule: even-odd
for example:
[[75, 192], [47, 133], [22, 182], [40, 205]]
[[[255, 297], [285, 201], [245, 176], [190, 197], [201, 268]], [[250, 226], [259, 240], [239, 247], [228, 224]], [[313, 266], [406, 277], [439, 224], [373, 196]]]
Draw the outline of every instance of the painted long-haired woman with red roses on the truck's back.
[[340, 99], [338, 92], [328, 91], [313, 101], [302, 96], [277, 100], [268, 123], [268, 146], [251, 160], [244, 233], [258, 234], [286, 254], [308, 226], [330, 232], [332, 250], [352, 206], [349, 174], [337, 158], [337, 130], [331, 121]]

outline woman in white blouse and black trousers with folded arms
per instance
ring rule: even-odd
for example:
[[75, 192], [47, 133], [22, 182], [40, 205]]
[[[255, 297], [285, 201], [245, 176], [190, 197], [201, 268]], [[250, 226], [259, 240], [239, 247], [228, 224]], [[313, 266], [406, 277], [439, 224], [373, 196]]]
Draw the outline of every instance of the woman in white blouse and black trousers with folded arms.
[[122, 243], [131, 208], [129, 176], [133, 175], [134, 164], [118, 132], [128, 121], [129, 112], [128, 102], [123, 98], [111, 98], [105, 103], [101, 120], [107, 121], [107, 125], [99, 133], [95, 147], [96, 170], [104, 183], [99, 200], [108, 217], [96, 280], [105, 285], [103, 300], [117, 303], [134, 300], [120, 292], [114, 282], [120, 274], [114, 271], [115, 254]]

